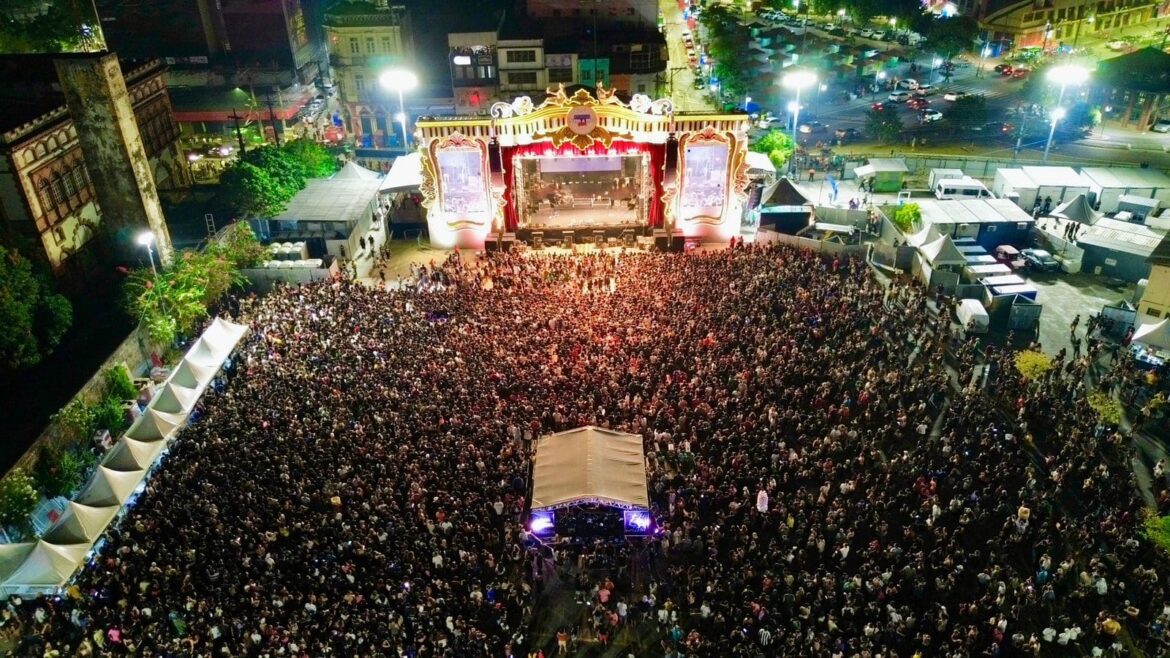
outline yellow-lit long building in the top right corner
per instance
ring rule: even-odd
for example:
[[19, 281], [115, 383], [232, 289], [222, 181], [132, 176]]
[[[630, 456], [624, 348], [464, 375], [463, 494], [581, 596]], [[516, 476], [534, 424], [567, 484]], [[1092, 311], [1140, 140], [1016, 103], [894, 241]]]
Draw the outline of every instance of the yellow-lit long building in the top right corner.
[[1120, 34], [1157, 18], [1162, 6], [1152, 0], [985, 0], [978, 19], [991, 43], [1048, 49], [1076, 47], [1081, 36]]

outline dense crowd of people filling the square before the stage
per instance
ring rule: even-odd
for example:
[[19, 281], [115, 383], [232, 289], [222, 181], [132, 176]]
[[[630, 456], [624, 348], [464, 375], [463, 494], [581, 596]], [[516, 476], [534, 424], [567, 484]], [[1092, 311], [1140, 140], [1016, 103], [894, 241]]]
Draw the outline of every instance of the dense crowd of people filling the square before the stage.
[[408, 283], [240, 300], [229, 384], [68, 595], [9, 604], [16, 654], [556, 654], [529, 459], [581, 425], [645, 438], [661, 529], [646, 591], [578, 585], [600, 642], [628, 615], [668, 658], [1166, 653], [1096, 348], [1025, 382], [945, 299], [786, 247]]

